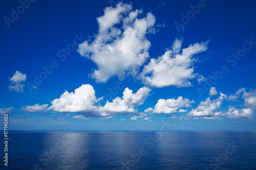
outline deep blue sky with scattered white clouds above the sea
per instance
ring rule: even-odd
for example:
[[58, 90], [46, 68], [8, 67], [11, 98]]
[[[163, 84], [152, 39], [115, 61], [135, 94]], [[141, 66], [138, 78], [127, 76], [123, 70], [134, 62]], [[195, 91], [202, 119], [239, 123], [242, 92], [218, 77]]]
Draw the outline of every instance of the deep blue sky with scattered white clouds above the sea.
[[256, 130], [255, 6], [3, 2], [0, 115], [10, 130]]

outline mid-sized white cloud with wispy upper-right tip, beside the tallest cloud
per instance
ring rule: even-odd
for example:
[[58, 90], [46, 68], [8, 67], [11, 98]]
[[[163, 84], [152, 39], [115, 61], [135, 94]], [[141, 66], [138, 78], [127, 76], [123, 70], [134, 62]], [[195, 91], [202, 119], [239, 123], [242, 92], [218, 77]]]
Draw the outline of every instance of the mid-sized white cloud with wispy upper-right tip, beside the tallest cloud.
[[194, 79], [198, 74], [194, 72], [193, 64], [197, 61], [194, 55], [207, 50], [207, 42], [190, 44], [187, 48], [181, 50], [182, 41], [176, 39], [172, 50], [168, 50], [164, 55], [157, 59], [152, 58], [144, 66], [140, 78], [146, 85], [154, 87], [191, 86], [189, 79]]

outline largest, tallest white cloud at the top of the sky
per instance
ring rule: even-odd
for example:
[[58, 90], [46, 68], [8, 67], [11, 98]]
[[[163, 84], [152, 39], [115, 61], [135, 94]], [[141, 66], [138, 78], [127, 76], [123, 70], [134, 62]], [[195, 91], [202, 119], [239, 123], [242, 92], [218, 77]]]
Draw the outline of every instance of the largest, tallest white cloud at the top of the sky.
[[125, 74], [135, 76], [149, 57], [151, 43], [145, 35], [152, 33], [156, 19], [152, 13], [140, 18], [141, 12], [123, 3], [105, 8], [104, 15], [97, 18], [99, 32], [95, 39], [79, 45], [80, 55], [97, 64], [98, 69], [91, 75], [96, 81], [106, 82], [114, 76], [122, 79]]

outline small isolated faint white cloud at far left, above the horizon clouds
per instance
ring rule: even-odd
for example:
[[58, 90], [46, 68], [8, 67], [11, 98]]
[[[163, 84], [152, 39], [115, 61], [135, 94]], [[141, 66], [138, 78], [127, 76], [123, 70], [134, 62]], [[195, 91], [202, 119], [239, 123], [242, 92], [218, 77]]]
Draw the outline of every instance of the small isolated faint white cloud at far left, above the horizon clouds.
[[11, 85], [9, 85], [10, 91], [15, 92], [23, 92], [25, 85], [22, 84], [23, 82], [26, 82], [26, 74], [22, 74], [22, 72], [16, 71], [15, 74], [9, 78]]

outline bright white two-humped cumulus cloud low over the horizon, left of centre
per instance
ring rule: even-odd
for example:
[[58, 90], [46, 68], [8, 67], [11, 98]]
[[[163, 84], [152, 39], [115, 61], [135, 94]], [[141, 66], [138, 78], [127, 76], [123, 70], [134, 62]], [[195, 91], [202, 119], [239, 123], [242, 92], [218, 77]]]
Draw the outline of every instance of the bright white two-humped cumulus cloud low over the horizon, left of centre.
[[79, 113], [73, 118], [87, 119], [90, 117], [101, 117], [102, 119], [112, 119], [117, 114], [137, 113], [135, 107], [140, 106], [146, 100], [151, 89], [141, 87], [136, 93], [133, 93], [129, 88], [125, 88], [122, 98], [115, 98], [112, 102], [107, 101], [104, 106], [100, 106], [95, 96], [95, 90], [90, 84], [83, 84], [75, 89], [75, 92], [65, 91], [60, 95], [59, 99], [51, 102], [52, 106], [33, 105], [22, 107], [22, 109], [30, 112], [39, 112], [53, 110], [55, 112]]

